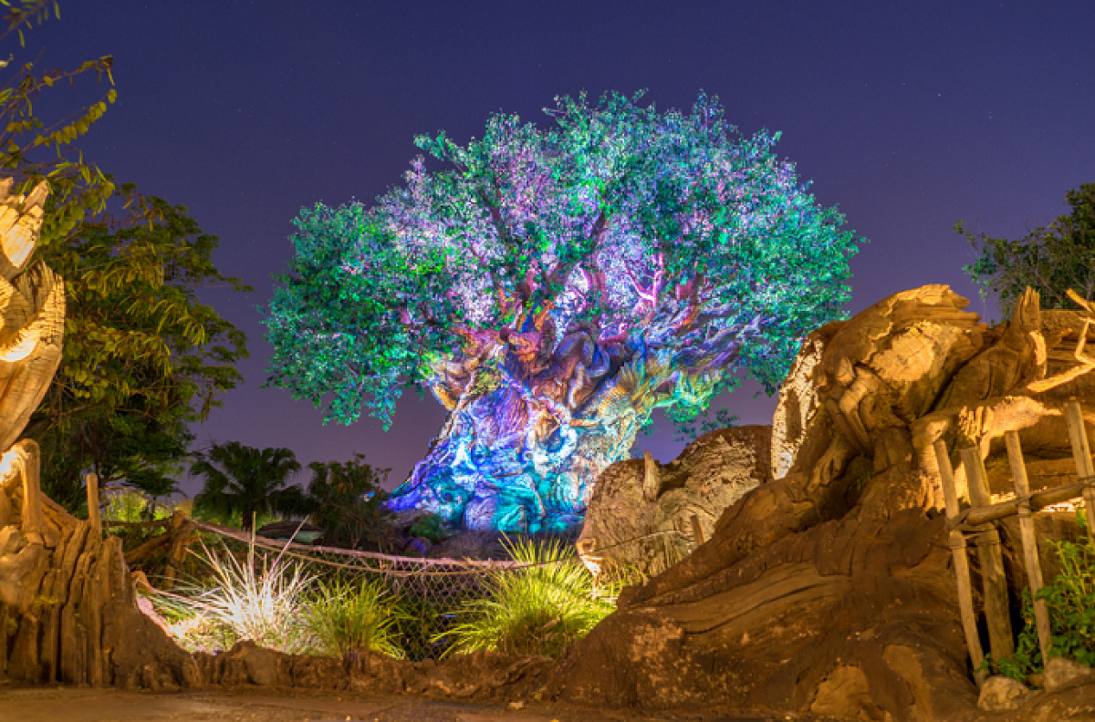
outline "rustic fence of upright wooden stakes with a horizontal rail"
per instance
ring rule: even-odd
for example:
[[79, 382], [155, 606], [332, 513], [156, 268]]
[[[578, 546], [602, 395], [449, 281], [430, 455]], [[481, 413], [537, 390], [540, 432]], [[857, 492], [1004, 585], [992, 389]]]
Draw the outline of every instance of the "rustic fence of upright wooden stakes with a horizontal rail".
[[[1046, 603], [1037, 598], [1044, 582], [1041, 563], [1038, 560], [1038, 539], [1035, 535], [1031, 514], [1046, 506], [1083, 497], [1088, 514], [1087, 539], [1095, 548], [1095, 538], [1092, 536], [1093, 524], [1091, 523], [1095, 521], [1092, 520], [1091, 515], [1092, 510], [1095, 510], [1095, 469], [1092, 467], [1091, 449], [1087, 444], [1087, 434], [1084, 431], [1083, 412], [1075, 399], [1065, 404], [1064, 419], [1069, 428], [1069, 441], [1076, 465], [1076, 481], [1030, 493], [1018, 432], [1008, 431], [1004, 435], [1004, 441], [1007, 445], [1007, 461], [1011, 466], [1015, 499], [991, 503], [988, 476], [980, 451], [976, 447], [963, 449], [959, 450], [958, 454], [961, 465], [966, 469], [970, 501], [969, 508], [964, 511], [958, 509], [954, 470], [950, 467], [946, 443], [942, 439], [935, 442], [935, 457], [938, 462], [940, 478], [946, 503], [949, 545], [954, 555], [958, 608], [961, 615], [963, 631], [966, 634], [966, 644], [969, 648], [975, 669], [981, 669], [984, 652], [977, 630], [977, 615], [973, 612], [967, 539], [972, 540], [977, 549], [984, 598], [984, 618], [989, 630], [989, 648], [993, 660], [1001, 660], [1015, 653], [1007, 604], [1007, 579], [1004, 575], [996, 522], [1008, 516], [1018, 516], [1023, 559], [1026, 566], [1027, 584], [1030, 587], [1030, 595], [1035, 599], [1035, 625], [1042, 660], [1049, 659], [1052, 638], [1050, 637], [1049, 613]], [[986, 673], [980, 671], [975, 676], [980, 685], [984, 682]]]

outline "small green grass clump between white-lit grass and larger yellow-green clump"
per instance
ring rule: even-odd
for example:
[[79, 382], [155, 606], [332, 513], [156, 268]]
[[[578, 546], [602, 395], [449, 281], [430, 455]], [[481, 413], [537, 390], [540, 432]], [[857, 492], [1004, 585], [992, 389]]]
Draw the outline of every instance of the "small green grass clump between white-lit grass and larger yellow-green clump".
[[306, 615], [313, 653], [351, 661], [366, 652], [403, 659], [397, 624], [406, 615], [382, 580], [320, 583]]

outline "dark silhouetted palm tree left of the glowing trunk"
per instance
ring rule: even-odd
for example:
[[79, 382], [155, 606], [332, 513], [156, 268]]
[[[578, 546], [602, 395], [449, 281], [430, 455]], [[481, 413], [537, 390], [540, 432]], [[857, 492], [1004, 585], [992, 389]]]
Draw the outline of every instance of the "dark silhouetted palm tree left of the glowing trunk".
[[195, 510], [222, 519], [239, 512], [249, 531], [258, 514], [303, 511], [300, 487], [289, 485], [289, 477], [300, 470], [290, 450], [254, 449], [229, 441], [196, 457], [191, 474], [204, 476], [205, 487], [194, 498]]

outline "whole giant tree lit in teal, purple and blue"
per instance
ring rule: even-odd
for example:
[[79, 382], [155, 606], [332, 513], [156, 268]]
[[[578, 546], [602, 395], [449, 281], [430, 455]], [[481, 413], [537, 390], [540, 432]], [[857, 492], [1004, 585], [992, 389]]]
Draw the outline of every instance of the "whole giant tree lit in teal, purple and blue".
[[[654, 409], [704, 411], [745, 374], [771, 392], [834, 318], [856, 238], [779, 135], [741, 137], [717, 98], [658, 113], [564, 97], [549, 130], [496, 115], [443, 132], [377, 206], [318, 205], [267, 326], [270, 384], [385, 421], [406, 386], [449, 418], [392, 496], [465, 528], [581, 519], [596, 475]], [[740, 372], [740, 373], [738, 373]]]

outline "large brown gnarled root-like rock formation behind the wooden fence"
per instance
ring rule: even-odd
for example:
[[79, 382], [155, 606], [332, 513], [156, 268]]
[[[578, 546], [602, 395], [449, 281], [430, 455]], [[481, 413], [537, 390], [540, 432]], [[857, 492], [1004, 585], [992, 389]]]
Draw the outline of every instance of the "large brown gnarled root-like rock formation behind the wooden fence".
[[[1031, 486], [1051, 482], [1056, 459], [1071, 457], [1060, 408], [1077, 396], [1095, 412], [1095, 374], [1077, 350], [1081, 314], [1041, 312], [1028, 293], [1007, 323], [988, 328], [965, 305], [929, 286], [810, 335], [776, 412], [775, 466], [797, 447], [787, 473], [746, 493], [683, 561], [625, 590], [621, 610], [561, 662], [552, 695], [977, 719], [927, 452], [943, 439], [953, 454], [971, 445], [996, 454], [999, 436], [1018, 430], [1049, 470]], [[1022, 554], [1011, 551], [1014, 564]], [[999, 719], [1092, 719], [1095, 687], [1075, 694], [1068, 704], [1030, 695]]]

